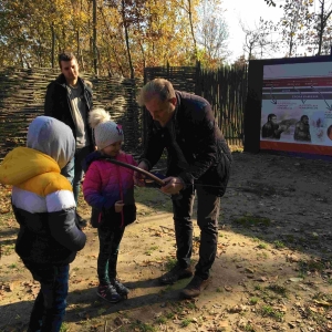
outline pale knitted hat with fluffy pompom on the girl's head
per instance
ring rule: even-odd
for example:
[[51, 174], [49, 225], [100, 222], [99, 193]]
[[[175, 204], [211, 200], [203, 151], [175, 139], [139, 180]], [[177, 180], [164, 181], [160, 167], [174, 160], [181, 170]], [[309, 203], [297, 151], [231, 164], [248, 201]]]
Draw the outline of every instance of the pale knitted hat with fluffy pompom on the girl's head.
[[103, 108], [91, 111], [89, 123], [94, 129], [94, 138], [98, 149], [124, 139], [122, 126], [111, 121], [111, 115]]

